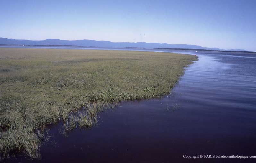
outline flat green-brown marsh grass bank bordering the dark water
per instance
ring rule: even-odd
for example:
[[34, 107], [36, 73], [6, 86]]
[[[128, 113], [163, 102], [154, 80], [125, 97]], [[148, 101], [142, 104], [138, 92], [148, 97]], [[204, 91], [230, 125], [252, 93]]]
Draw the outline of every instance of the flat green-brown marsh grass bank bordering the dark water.
[[[97, 113], [123, 100], [170, 92], [197, 60], [174, 53], [0, 48], [0, 152], [40, 157], [45, 125], [63, 133], [90, 128]], [[79, 112], [77, 110], [83, 107]]]

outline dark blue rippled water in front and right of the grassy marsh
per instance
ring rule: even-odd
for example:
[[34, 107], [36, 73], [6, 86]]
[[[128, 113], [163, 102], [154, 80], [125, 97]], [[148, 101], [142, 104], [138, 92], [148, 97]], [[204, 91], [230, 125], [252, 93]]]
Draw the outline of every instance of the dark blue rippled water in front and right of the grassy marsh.
[[[126, 49], [127, 50], [127, 49]], [[195, 54], [192, 51], [175, 51]], [[172, 95], [123, 103], [101, 113], [98, 126], [56, 144], [41, 160], [9, 162], [256, 162], [256, 159], [186, 159], [183, 155], [256, 155], [256, 54], [198, 52]]]

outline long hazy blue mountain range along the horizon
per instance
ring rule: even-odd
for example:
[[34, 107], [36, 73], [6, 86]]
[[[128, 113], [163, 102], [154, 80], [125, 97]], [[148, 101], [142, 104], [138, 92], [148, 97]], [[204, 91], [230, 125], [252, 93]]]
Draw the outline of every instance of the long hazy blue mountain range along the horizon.
[[220, 50], [220, 51], [246, 51], [244, 49], [220, 49], [220, 48], [206, 48], [198, 45], [189, 44], [166, 44], [166, 43], [147, 43], [147, 42], [111, 42], [111, 41], [95, 41], [95, 40], [59, 40], [46, 39], [42, 41], [32, 40], [15, 40], [0, 37], [0, 45], [62, 45], [62, 46], [85, 46], [85, 47], [101, 47], [101, 48], [187, 48], [187, 49], [205, 49], [205, 50]]

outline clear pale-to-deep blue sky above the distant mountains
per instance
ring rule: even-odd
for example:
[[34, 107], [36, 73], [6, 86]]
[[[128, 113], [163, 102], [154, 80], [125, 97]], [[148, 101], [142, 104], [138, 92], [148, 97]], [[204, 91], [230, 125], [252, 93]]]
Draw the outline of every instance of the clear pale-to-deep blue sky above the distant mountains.
[[0, 37], [143, 41], [256, 51], [256, 0], [0, 0]]

